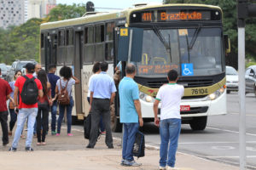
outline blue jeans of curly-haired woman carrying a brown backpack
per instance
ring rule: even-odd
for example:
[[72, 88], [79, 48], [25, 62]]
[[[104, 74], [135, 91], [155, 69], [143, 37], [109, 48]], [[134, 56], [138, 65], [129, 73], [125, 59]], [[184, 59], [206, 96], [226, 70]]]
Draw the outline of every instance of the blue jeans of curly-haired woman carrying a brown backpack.
[[69, 105], [59, 105], [60, 115], [58, 119], [57, 133], [61, 133], [61, 122], [64, 117], [65, 108], [67, 108], [67, 133], [71, 132], [71, 123], [72, 123], [72, 109], [73, 109], [73, 97], [70, 97]]

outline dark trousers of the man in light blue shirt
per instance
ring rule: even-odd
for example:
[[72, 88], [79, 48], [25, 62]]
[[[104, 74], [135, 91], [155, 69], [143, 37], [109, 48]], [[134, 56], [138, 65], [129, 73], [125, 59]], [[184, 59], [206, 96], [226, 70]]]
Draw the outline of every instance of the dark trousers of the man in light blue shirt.
[[108, 146], [113, 145], [113, 138], [110, 127], [110, 99], [92, 99], [91, 104], [91, 129], [89, 145], [94, 146], [98, 138], [99, 123], [102, 121], [106, 128], [105, 143]]

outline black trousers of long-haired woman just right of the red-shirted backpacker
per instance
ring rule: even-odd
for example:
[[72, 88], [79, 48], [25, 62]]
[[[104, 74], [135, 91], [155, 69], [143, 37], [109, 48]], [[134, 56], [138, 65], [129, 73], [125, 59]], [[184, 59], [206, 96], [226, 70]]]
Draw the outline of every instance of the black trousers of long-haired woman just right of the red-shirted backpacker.
[[[49, 116], [49, 108], [44, 108], [44, 109], [38, 108], [38, 116], [37, 116], [38, 142], [45, 142], [45, 135], [48, 129], [48, 122], [49, 122], [48, 116]], [[42, 126], [43, 126], [43, 133], [41, 133]]]

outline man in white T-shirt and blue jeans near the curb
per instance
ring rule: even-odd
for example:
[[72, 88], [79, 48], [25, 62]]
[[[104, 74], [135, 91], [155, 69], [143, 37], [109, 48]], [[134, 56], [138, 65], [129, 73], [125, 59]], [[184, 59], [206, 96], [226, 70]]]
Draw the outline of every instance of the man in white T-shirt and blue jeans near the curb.
[[[184, 94], [183, 86], [176, 83], [177, 71], [169, 71], [167, 79], [169, 83], [160, 87], [154, 101], [154, 124], [160, 126], [160, 169], [166, 169], [166, 165], [167, 169], [175, 166], [177, 140], [181, 129], [180, 102]], [[159, 120], [158, 105], [160, 102]]]

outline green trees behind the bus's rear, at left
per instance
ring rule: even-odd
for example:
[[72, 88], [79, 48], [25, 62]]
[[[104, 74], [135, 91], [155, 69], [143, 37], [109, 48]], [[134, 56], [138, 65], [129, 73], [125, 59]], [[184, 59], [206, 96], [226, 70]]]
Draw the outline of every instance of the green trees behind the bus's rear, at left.
[[27, 20], [21, 26], [0, 28], [0, 63], [11, 65], [15, 59], [39, 59], [40, 24], [83, 16], [85, 4], [59, 4], [44, 19]]

